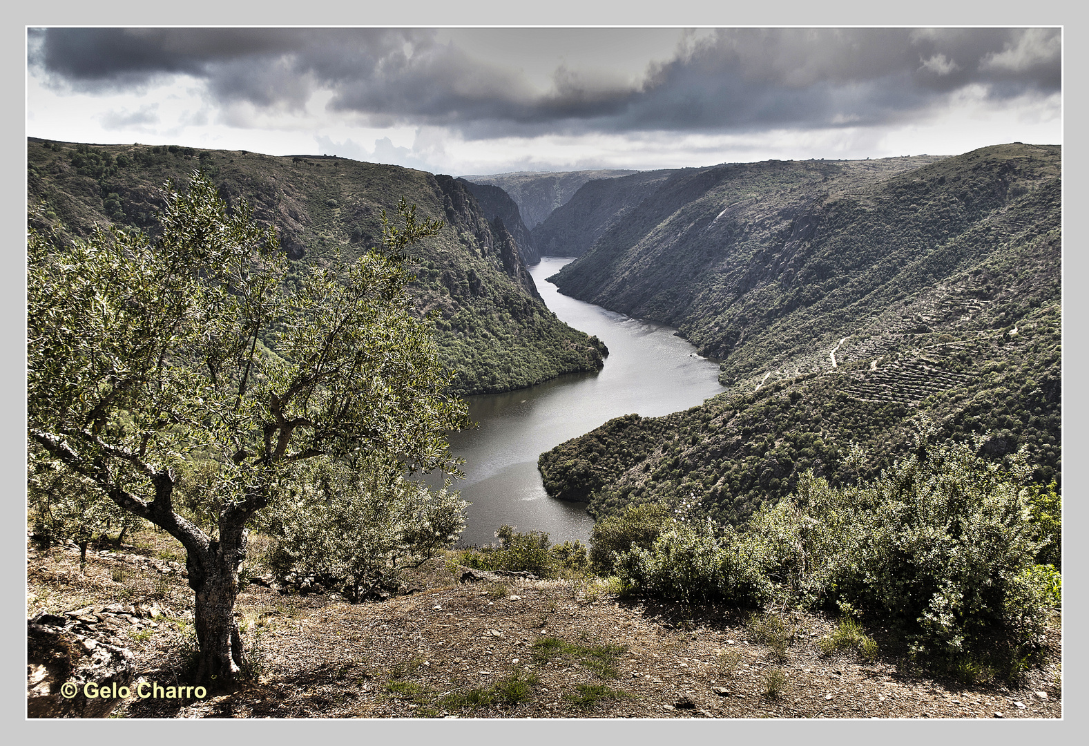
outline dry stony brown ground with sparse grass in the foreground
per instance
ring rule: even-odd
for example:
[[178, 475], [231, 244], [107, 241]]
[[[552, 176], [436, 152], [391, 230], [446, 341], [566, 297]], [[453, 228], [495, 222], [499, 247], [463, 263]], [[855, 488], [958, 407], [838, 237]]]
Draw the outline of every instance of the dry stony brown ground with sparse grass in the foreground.
[[[193, 595], [167, 539], [148, 531], [135, 547], [89, 552], [86, 573], [74, 548], [28, 542], [27, 619], [84, 647], [125, 648], [134, 682], [192, 684]], [[250, 681], [204, 699], [133, 694], [110, 717], [1062, 717], [1057, 628], [1016, 682], [964, 686], [910, 670], [880, 631], [869, 631], [873, 661], [824, 656], [835, 625], [816, 615], [784, 614], [776, 652], [747, 614], [617, 599], [595, 582], [460, 576], [437, 560], [408, 578], [412, 592], [362, 604], [249, 585], [237, 613]], [[28, 692], [40, 694], [45, 668], [29, 669]]]

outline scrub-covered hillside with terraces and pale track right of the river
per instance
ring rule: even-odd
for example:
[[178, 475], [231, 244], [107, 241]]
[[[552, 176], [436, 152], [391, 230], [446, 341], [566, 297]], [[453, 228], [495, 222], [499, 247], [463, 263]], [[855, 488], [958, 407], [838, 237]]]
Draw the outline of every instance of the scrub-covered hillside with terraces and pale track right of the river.
[[876, 476], [920, 415], [1059, 480], [1060, 159], [1013, 144], [673, 174], [553, 281], [680, 327], [731, 389], [562, 443], [546, 488], [598, 517], [695, 499], [737, 524], [807, 468]]

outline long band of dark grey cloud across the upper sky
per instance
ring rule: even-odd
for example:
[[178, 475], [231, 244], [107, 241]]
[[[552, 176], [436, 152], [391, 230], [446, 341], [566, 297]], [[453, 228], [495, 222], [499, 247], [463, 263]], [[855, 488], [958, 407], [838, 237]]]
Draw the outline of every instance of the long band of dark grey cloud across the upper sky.
[[[610, 42], [626, 33], [599, 30]], [[879, 124], [972, 84], [1001, 100], [1062, 83], [1056, 28], [718, 29], [686, 36], [638, 83], [560, 68], [547, 93], [429, 29], [48, 28], [32, 30], [30, 50], [56, 86], [123, 89], [184, 73], [221, 102], [289, 109], [329, 88], [333, 110], [374, 126], [446, 125], [468, 137]]]

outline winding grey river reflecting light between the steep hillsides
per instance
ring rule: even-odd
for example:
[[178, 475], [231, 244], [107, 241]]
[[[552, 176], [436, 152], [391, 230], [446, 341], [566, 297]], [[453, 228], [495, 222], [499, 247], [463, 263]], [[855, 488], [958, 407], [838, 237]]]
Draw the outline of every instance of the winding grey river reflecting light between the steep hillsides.
[[594, 519], [586, 503], [550, 498], [537, 456], [613, 417], [657, 417], [723, 391], [718, 364], [699, 357], [674, 329], [561, 295], [546, 278], [572, 260], [542, 257], [529, 273], [560, 319], [608, 345], [605, 365], [596, 374], [467, 398], [469, 417], [480, 427], [450, 438], [453, 452], [465, 460], [466, 478], [454, 487], [472, 503], [461, 546], [494, 542], [495, 529], [504, 524], [548, 531], [553, 542], [587, 542]]

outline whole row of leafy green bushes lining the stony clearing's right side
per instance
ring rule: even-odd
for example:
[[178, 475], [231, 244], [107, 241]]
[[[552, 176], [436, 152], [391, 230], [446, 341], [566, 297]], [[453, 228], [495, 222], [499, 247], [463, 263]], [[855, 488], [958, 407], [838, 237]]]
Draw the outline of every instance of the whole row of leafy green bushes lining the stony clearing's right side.
[[[744, 533], [671, 521], [649, 550], [617, 559], [639, 594], [684, 602], [857, 609], [881, 619], [917, 657], [941, 665], [995, 657], [1011, 671], [1040, 639], [1062, 578], [1036, 562], [1031, 474], [972, 444], [933, 442], [923, 423], [909, 456], [878, 479], [833, 488], [807, 473]], [[1038, 503], [1039, 504], [1039, 503]]]

